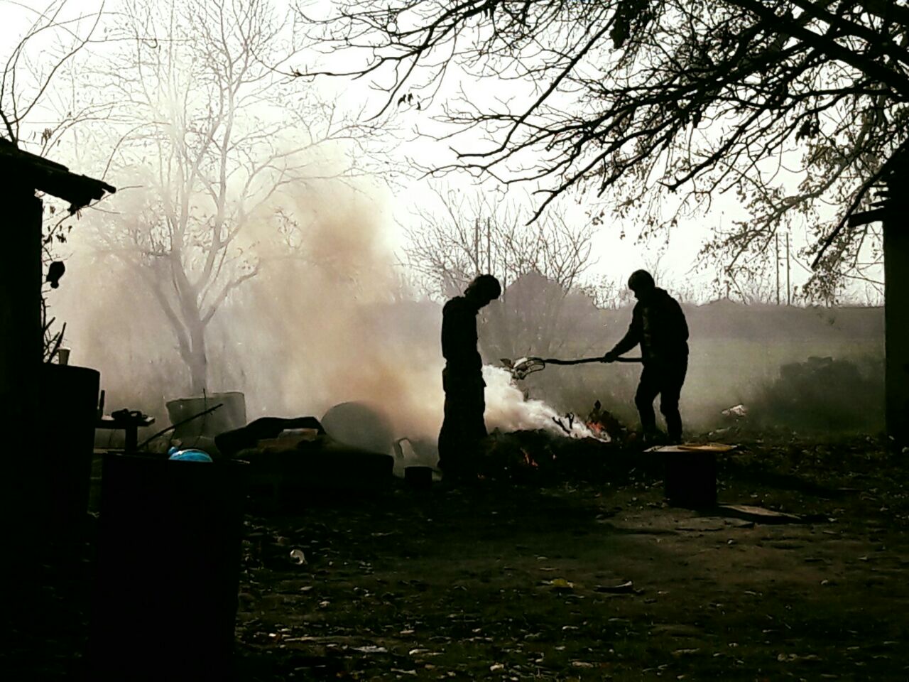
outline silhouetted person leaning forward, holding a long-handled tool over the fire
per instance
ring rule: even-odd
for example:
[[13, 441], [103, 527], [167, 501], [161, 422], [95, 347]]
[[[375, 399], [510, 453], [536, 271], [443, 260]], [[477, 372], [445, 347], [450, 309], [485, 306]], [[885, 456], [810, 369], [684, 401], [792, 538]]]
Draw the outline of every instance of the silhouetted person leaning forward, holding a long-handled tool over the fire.
[[632, 273], [628, 288], [637, 298], [631, 325], [622, 340], [603, 356], [603, 361], [613, 362], [634, 346], [641, 345], [644, 371], [634, 405], [641, 416], [644, 438], [653, 439], [658, 434], [654, 398], [659, 394], [660, 412], [666, 419], [669, 441], [681, 443], [679, 394], [688, 370], [688, 325], [682, 307], [664, 289], [656, 286], [654, 278], [645, 270]]

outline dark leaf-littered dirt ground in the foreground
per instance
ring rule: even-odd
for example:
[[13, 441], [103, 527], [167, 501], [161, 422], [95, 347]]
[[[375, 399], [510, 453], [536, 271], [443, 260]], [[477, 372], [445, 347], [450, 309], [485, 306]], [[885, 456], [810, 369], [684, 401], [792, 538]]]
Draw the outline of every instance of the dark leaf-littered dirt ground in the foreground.
[[[588, 482], [260, 506], [245, 518], [238, 678], [909, 678], [909, 454], [724, 436], [741, 446], [719, 457], [720, 501], [801, 522], [668, 506], [644, 454]], [[79, 570], [44, 567], [35, 613], [53, 612], [53, 636], [7, 638], [19, 672], [5, 678], [75, 678], [85, 548]]]

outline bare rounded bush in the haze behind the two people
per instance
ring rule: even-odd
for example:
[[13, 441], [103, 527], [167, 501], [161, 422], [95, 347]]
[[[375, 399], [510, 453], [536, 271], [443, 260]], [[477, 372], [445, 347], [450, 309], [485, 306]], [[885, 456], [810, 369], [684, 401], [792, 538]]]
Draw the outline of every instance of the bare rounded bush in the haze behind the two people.
[[485, 309], [484, 349], [514, 356], [554, 350], [564, 338], [568, 296], [580, 296], [594, 265], [594, 226], [571, 226], [555, 210], [533, 225], [514, 203], [482, 192], [435, 187], [438, 210], [415, 209], [405, 229], [405, 264], [425, 276], [430, 293], [455, 296], [482, 272], [499, 278], [503, 296]]

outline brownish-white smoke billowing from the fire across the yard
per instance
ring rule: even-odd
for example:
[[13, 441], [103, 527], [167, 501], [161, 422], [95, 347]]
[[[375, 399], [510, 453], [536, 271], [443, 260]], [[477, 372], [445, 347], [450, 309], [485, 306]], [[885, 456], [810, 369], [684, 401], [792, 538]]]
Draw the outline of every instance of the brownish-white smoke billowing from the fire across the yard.
[[[255, 222], [241, 246], [255, 249], [262, 272], [209, 326], [211, 392], [243, 391], [249, 420], [321, 417], [338, 403], [363, 402], [384, 413], [398, 437], [435, 441], [444, 404], [442, 308], [402, 283], [384, 208], [348, 188], [317, 195], [301, 188], [282, 205], [299, 234], [279, 243], [267, 216]], [[86, 223], [53, 302], [68, 322], [65, 345], [74, 364], [101, 370], [108, 411], [142, 409], [163, 426], [165, 401], [188, 390], [175, 336], [135, 269], [88, 246]], [[561, 432], [555, 410], [524, 401], [504, 369], [484, 367], [484, 377], [490, 430]]]

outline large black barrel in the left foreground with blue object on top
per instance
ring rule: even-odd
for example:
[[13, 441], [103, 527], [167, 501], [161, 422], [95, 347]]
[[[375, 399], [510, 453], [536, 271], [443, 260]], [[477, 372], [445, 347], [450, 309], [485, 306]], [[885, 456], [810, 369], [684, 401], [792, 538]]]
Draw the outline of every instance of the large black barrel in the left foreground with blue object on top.
[[96, 679], [231, 679], [243, 490], [234, 462], [107, 455]]

